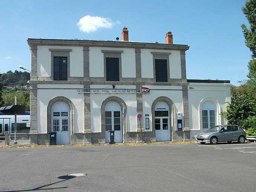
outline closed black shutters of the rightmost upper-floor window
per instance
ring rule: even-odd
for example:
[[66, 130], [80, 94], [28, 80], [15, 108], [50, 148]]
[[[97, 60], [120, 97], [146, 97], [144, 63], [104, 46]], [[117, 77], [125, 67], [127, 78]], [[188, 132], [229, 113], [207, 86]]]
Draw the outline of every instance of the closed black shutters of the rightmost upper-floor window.
[[155, 59], [155, 80], [156, 82], [167, 82], [166, 59]]

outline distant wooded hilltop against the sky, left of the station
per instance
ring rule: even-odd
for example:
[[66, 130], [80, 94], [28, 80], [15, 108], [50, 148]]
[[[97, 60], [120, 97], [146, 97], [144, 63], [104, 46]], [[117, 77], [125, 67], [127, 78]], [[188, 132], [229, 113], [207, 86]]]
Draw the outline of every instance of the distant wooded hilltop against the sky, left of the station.
[[0, 76], [0, 82], [2, 82], [3, 86], [24, 86], [26, 85], [27, 81], [30, 79], [30, 73], [28, 72], [21, 72], [15, 70], [13, 73], [9, 70], [6, 73], [3, 73]]

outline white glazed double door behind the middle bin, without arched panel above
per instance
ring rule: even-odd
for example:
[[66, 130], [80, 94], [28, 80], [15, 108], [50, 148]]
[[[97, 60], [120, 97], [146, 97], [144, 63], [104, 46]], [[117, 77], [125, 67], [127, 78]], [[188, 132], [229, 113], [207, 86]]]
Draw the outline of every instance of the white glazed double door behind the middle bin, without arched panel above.
[[122, 119], [121, 111], [111, 110], [105, 111], [105, 140], [106, 143], [110, 142], [110, 133], [108, 131], [114, 132], [114, 142], [122, 143]]

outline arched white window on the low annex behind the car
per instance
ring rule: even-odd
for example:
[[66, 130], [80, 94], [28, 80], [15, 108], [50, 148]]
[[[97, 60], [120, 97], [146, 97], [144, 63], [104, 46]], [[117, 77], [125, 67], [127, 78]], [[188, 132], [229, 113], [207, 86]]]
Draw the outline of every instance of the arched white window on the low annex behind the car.
[[216, 125], [216, 108], [213, 102], [206, 101], [202, 106], [203, 129], [209, 129]]

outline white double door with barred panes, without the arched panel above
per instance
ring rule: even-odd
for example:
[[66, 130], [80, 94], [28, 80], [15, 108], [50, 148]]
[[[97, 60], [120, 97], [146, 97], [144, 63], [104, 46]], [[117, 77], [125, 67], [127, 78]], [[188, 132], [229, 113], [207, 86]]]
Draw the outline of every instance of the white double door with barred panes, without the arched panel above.
[[56, 144], [70, 144], [70, 118], [67, 111], [55, 111], [52, 116], [52, 131], [56, 131]]

